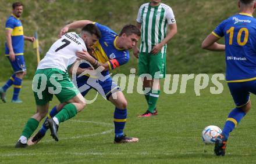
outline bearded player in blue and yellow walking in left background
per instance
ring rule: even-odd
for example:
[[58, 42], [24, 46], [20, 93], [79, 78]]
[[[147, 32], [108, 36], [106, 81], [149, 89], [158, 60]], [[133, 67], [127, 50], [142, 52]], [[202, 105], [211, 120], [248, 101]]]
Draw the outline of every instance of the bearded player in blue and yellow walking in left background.
[[34, 42], [34, 37], [26, 37], [23, 34], [22, 16], [23, 4], [15, 2], [12, 4], [12, 15], [6, 20], [5, 23], [5, 56], [8, 57], [12, 65], [14, 74], [10, 76], [5, 85], [0, 88], [0, 98], [6, 103], [6, 90], [13, 85], [12, 103], [22, 103], [19, 99], [20, 89], [22, 88], [22, 79], [26, 74], [26, 64], [23, 57], [24, 40]]

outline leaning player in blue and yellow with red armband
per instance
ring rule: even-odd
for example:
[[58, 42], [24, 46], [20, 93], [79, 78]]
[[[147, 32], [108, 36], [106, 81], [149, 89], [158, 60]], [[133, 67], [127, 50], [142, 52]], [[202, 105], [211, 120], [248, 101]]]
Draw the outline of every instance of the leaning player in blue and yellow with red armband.
[[[64, 28], [62, 28], [60, 35], [65, 34], [70, 28], [80, 28], [90, 23], [94, 22], [90, 20], [74, 21], [73, 23], [67, 24]], [[93, 46], [93, 57], [91, 57], [91, 59], [87, 59], [87, 61], [89, 61], [95, 69], [102, 67], [103, 71], [100, 72], [100, 74], [107, 77], [109, 76], [109, 70], [113, 70], [129, 61], [129, 49], [132, 49], [133, 46], [136, 45], [140, 37], [140, 30], [135, 25], [125, 25], [125, 27], [122, 28], [120, 34], [118, 35], [105, 25], [99, 23], [94, 24], [101, 31], [102, 37]], [[84, 55], [84, 52], [78, 52], [77, 54]], [[88, 68], [90, 65], [83, 63], [80, 64], [79, 67]], [[70, 68], [70, 73], [72, 73], [72, 68]], [[115, 125], [114, 143], [137, 142], [137, 138], [126, 137], [123, 133], [127, 118], [127, 101], [120, 87], [112, 81], [111, 76], [103, 80], [98, 79], [98, 84], [100, 85], [99, 88], [90, 85], [90, 81], [92, 80], [91, 78], [91, 76], [88, 77], [84, 75], [81, 77], [76, 76], [74, 79], [77, 82], [78, 88], [81, 88], [81, 86], [86, 84], [89, 85], [87, 90], [80, 91], [83, 96], [85, 96], [90, 89], [94, 89], [99, 92], [106, 100], [111, 101], [111, 103], [115, 105], [115, 112], [113, 115], [113, 121]], [[58, 107], [52, 108], [48, 118], [54, 116], [59, 110], [60, 109]], [[39, 132], [35, 134], [35, 136], [32, 137], [32, 139], [29, 141], [29, 145], [37, 144], [38, 141], [44, 137], [47, 129], [47, 126], [42, 125]]]

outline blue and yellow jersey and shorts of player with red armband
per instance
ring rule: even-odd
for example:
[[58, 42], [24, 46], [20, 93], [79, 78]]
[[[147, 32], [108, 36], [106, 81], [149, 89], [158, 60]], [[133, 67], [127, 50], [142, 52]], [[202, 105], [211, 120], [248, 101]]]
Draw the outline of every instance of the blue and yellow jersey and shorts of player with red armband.
[[[129, 61], [129, 50], [120, 49], [116, 46], [116, 39], [118, 38], [118, 34], [113, 32], [110, 28], [99, 23], [95, 23], [95, 25], [99, 28], [99, 30], [101, 30], [102, 37], [93, 46], [93, 56], [101, 63], [108, 63], [108, 70], [101, 72], [102, 76], [106, 77], [109, 75], [109, 70], [113, 70], [116, 67], [119, 67], [120, 65], [123, 65]], [[87, 63], [82, 63], [79, 65], [79, 67], [88, 68], [90, 67], [90, 65]], [[83, 86], [85, 83], [87, 83], [89, 78], [91, 77], [77, 76], [77, 87], [80, 88], [81, 86]], [[102, 96], [106, 99], [109, 99], [109, 96], [111, 96], [111, 94], [120, 91], [119, 86], [117, 86], [116, 83], [112, 81], [112, 78], [110, 76], [103, 80], [104, 81], [98, 79], [98, 83], [104, 90]], [[90, 88], [81, 92], [81, 94], [85, 96], [90, 89], [95, 89], [98, 91], [96, 86], [90, 86]]]

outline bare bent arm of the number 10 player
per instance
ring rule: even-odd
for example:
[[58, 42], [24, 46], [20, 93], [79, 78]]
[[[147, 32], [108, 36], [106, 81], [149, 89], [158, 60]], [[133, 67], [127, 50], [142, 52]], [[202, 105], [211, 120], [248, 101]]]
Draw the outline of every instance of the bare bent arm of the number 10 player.
[[225, 45], [217, 43], [218, 40], [219, 38], [215, 37], [213, 34], [209, 34], [202, 42], [201, 48], [211, 51], [225, 51]]

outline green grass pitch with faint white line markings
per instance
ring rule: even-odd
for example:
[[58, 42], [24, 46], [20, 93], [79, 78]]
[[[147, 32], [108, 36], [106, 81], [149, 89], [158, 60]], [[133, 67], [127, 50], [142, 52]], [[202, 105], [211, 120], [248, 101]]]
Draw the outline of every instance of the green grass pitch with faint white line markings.
[[[211, 94], [208, 86], [201, 96], [195, 96], [191, 80], [185, 94], [162, 92], [159, 115], [152, 118], [137, 118], [146, 108], [143, 95], [126, 94], [129, 116], [125, 133], [138, 137], [138, 143], [113, 144], [113, 106], [98, 97], [61, 124], [58, 143], [48, 132], [37, 145], [16, 149], [24, 124], [35, 112], [31, 81], [24, 81], [22, 104], [0, 103], [0, 163], [255, 163], [255, 96], [251, 96], [251, 112], [230, 135], [226, 156], [216, 157], [213, 145], [203, 152], [202, 129], [207, 125], [222, 128], [234, 107], [225, 82], [223, 86], [222, 94]], [[12, 89], [8, 91], [9, 101], [11, 94]], [[94, 94], [90, 92], [88, 97]], [[51, 107], [56, 103], [54, 99]]]

